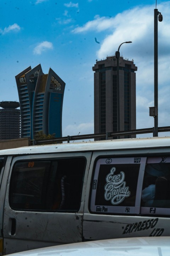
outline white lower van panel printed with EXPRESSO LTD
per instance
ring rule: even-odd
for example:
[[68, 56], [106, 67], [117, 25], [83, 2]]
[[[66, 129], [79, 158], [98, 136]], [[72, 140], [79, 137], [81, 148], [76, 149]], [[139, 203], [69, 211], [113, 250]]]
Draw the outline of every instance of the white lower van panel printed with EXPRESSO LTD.
[[167, 223], [169, 223], [169, 218], [153, 216], [98, 215], [95, 220], [91, 220], [90, 215], [85, 215], [85, 220], [83, 221], [84, 241], [110, 239], [111, 237], [133, 238], [143, 235], [170, 236]]

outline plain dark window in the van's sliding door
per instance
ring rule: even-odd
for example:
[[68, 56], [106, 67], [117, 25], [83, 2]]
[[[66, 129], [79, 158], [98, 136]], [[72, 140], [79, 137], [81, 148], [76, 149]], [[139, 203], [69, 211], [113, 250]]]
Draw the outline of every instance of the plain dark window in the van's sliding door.
[[85, 158], [16, 162], [10, 181], [11, 208], [78, 211], [85, 164]]

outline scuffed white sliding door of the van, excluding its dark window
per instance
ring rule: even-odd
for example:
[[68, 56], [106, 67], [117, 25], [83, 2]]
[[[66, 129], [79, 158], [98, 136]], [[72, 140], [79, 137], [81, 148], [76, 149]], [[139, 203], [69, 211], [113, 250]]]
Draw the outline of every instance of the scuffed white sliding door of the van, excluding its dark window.
[[[75, 158], [76, 156], [76, 158]], [[39, 162], [44, 160], [64, 160], [64, 159], [86, 159], [86, 170], [84, 173], [83, 190], [81, 193], [80, 208], [77, 212], [67, 212], [67, 210], [56, 211], [36, 211], [36, 210], [16, 210], [11, 209], [10, 198], [10, 178], [11, 172], [16, 163]], [[4, 208], [4, 252], [31, 250], [38, 247], [50, 245], [67, 244], [82, 241], [83, 208], [85, 197], [85, 185], [91, 160], [91, 153], [67, 153], [49, 154], [34, 156], [16, 156], [13, 158], [10, 170], [10, 178], [7, 184], [5, 208]], [[70, 172], [74, 166], [70, 166]], [[80, 195], [79, 195], [80, 196]], [[74, 198], [71, 198], [74, 201]], [[23, 239], [24, 238], [24, 239]], [[22, 242], [21, 242], [22, 241]]]

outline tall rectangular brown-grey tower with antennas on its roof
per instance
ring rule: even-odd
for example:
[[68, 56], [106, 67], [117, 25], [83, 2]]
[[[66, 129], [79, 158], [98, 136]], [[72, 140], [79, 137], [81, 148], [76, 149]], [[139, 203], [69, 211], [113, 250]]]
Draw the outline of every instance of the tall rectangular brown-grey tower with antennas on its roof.
[[[96, 60], [94, 73], [95, 133], [136, 129], [136, 73], [133, 61], [119, 58], [119, 96], [117, 96], [117, 60], [115, 56]], [[118, 113], [118, 97], [120, 111]], [[127, 137], [127, 136], [126, 136]], [[133, 136], [135, 137], [135, 135]]]

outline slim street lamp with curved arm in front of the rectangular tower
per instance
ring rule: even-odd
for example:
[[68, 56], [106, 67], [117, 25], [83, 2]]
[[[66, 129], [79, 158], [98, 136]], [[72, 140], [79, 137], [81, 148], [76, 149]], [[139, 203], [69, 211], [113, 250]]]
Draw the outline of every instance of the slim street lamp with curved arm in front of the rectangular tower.
[[[123, 42], [123, 43], [132, 43], [131, 41], [128, 41], [128, 42]], [[123, 44], [121, 43], [120, 46]], [[120, 132], [120, 101], [119, 101], [119, 58], [120, 58], [120, 52], [119, 52], [119, 49], [120, 49], [120, 46], [117, 50], [117, 52], [115, 52], [115, 56], [116, 56], [116, 59], [117, 59], [117, 122], [118, 122], [118, 132]]]

